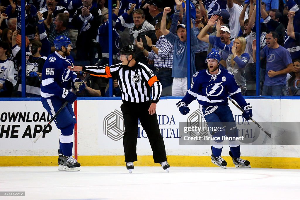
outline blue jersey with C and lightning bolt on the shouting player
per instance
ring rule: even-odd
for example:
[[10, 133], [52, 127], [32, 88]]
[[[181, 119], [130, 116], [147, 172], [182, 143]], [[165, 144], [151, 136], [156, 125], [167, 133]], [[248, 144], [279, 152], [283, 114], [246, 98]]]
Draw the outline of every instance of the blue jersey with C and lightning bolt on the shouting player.
[[[210, 80], [213, 79], [211, 82]], [[219, 69], [216, 75], [201, 70], [193, 77], [193, 86], [187, 91], [203, 106], [216, 106], [227, 103], [227, 97], [241, 92], [232, 73]]]

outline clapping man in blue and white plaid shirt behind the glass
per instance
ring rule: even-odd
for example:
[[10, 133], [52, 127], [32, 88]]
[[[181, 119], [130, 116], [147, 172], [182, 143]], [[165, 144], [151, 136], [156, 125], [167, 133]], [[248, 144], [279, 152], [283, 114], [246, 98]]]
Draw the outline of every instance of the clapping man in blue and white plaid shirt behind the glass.
[[156, 68], [155, 75], [163, 86], [161, 96], [172, 96], [172, 65], [173, 65], [173, 50], [174, 46], [161, 33], [161, 22], [155, 25], [155, 35], [157, 37], [156, 45], [152, 44], [150, 37], [145, 36], [147, 45], [151, 47], [152, 51], [148, 52], [143, 47], [142, 40], [136, 41], [137, 47], [141, 49], [143, 54], [149, 59], [154, 60]]

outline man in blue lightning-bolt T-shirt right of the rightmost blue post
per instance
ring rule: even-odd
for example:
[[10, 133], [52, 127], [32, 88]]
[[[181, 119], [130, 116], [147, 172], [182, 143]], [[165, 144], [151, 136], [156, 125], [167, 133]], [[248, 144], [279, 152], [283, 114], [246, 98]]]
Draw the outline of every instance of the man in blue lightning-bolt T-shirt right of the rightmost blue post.
[[[266, 35], [265, 46], [260, 51], [260, 59], [267, 58], [264, 96], [283, 96], [286, 90], [286, 74], [292, 72], [292, 58], [289, 51], [278, 43], [278, 34], [270, 31]], [[253, 40], [253, 60], [256, 62], [256, 40]]]

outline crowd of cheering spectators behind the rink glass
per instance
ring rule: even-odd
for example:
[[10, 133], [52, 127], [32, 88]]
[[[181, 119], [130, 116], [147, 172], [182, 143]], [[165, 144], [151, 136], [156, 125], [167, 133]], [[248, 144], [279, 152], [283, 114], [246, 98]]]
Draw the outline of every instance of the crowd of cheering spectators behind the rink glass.
[[[114, 63], [119, 63], [122, 46], [134, 45], [136, 60], [146, 64], [163, 85], [162, 96], [184, 96], [187, 63], [192, 74], [206, 70], [205, 58], [212, 48], [220, 52], [220, 68], [234, 74], [243, 95], [256, 95], [256, 61], [260, 61], [261, 95], [300, 95], [300, 0], [262, 0], [260, 4], [258, 59], [255, 0], [113, 0], [112, 19], [106, 0], [26, 0], [25, 41], [20, 35], [21, 0], [0, 0], [0, 97], [21, 96], [23, 50], [26, 97], [40, 96], [41, 71], [59, 35], [72, 41], [74, 65], [100, 61], [106, 66], [110, 37]], [[186, 6], [190, 6], [190, 18]], [[21, 49], [22, 42], [26, 49]], [[85, 73], [78, 77], [84, 79]], [[109, 95], [105, 78], [91, 76], [85, 84], [85, 91], [78, 94], [81, 97]], [[113, 95], [121, 93], [114, 79]]]

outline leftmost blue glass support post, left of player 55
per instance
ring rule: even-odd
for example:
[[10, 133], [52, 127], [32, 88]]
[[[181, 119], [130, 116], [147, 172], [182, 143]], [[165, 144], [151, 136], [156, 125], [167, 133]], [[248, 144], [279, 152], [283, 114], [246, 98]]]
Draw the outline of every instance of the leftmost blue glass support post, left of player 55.
[[[22, 66], [22, 97], [26, 96], [26, 34], [25, 34], [25, 1], [21, 1], [21, 66]], [[18, 28], [18, 27], [16, 27]]]

